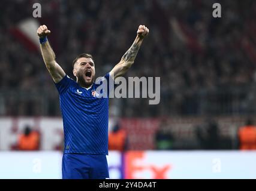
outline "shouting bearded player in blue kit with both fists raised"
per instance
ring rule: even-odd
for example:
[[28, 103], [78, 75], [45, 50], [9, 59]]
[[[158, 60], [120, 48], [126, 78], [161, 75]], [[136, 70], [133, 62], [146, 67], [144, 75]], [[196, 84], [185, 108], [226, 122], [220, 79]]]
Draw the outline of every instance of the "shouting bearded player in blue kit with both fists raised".
[[[124, 75], [134, 63], [138, 50], [149, 29], [140, 25], [135, 41], [122, 56], [121, 61], [107, 73], [104, 79], [109, 84]], [[62, 111], [65, 149], [62, 158], [62, 178], [109, 178], [107, 165], [109, 99], [97, 97], [99, 84], [94, 82], [95, 64], [91, 54], [80, 54], [73, 61], [70, 79], [55, 60], [47, 40], [50, 30], [45, 25], [37, 30], [41, 53], [50, 75], [59, 92]]]

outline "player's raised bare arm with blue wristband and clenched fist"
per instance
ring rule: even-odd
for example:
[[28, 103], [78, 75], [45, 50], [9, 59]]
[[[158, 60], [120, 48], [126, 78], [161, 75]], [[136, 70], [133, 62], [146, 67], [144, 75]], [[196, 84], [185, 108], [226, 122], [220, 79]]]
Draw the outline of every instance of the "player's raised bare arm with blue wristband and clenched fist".
[[45, 25], [40, 26], [37, 29], [37, 35], [40, 38], [40, 48], [44, 63], [46, 64], [46, 67], [50, 72], [53, 81], [58, 83], [62, 78], [64, 78], [66, 74], [61, 66], [59, 66], [59, 64], [55, 61], [55, 53], [53, 52], [52, 47], [50, 47], [50, 44], [47, 40], [47, 35], [49, 34], [50, 30], [48, 30]]

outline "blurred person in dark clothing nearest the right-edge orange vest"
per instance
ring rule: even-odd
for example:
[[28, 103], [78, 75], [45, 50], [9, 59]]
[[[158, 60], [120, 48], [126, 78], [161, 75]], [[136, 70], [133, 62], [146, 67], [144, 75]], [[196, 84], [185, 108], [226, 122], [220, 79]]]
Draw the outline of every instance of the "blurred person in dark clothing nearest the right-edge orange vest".
[[208, 119], [203, 127], [197, 127], [196, 134], [201, 149], [221, 149], [222, 139], [215, 121]]

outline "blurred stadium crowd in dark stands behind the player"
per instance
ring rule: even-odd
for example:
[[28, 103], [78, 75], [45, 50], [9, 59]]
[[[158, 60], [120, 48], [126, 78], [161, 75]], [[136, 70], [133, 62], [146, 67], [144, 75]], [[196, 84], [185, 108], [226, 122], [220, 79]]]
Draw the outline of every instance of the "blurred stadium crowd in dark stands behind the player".
[[[239, 107], [228, 105], [224, 112], [255, 111], [255, 1], [221, 1], [221, 18], [212, 16], [214, 1], [203, 0], [37, 2], [42, 8], [37, 20], [52, 31], [56, 60], [70, 77], [71, 63], [80, 53], [91, 53], [97, 76], [103, 76], [132, 44], [138, 25], [149, 26], [150, 35], [127, 76], [160, 76], [161, 101], [111, 100], [119, 115], [219, 114], [221, 106], [211, 110], [212, 104], [233, 97]], [[40, 53], [26, 49], [10, 32], [32, 18], [34, 3], [1, 1], [1, 115], [60, 115], [58, 93]], [[44, 113], [37, 95], [47, 97]]]

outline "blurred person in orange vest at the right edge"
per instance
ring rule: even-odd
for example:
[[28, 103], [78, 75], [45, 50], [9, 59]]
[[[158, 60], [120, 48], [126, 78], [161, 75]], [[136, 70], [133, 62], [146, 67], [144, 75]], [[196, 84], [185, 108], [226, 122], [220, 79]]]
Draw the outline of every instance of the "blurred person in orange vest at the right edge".
[[240, 150], [256, 149], [256, 126], [252, 119], [248, 119], [246, 125], [239, 128], [238, 139]]

